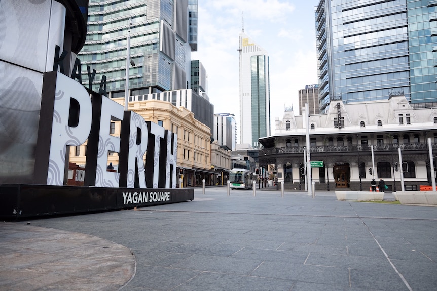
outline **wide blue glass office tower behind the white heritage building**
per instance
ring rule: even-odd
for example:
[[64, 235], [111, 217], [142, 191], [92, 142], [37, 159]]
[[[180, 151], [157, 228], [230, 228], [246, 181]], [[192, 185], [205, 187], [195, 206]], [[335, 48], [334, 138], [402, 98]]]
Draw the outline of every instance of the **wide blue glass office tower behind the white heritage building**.
[[320, 110], [340, 98], [372, 101], [399, 93], [416, 107], [436, 106], [435, 11], [430, 0], [320, 0]]

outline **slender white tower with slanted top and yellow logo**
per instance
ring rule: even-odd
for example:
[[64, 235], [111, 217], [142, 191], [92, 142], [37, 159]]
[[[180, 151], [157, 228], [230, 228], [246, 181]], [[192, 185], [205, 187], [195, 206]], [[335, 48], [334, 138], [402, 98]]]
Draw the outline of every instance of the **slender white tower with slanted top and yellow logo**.
[[269, 57], [240, 33], [240, 143], [258, 147], [270, 135]]

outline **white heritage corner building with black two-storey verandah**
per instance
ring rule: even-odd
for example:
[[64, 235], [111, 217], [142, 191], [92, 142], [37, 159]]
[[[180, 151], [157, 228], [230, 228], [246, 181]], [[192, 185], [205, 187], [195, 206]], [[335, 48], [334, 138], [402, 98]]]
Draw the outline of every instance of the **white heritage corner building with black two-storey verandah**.
[[323, 162], [323, 167], [311, 168], [316, 190], [368, 191], [373, 178], [383, 178], [387, 191], [400, 191], [403, 170], [405, 190], [430, 185], [428, 138], [434, 157], [437, 108], [414, 108], [399, 93], [390, 94], [388, 100], [332, 101], [325, 114], [310, 115], [308, 125], [305, 112], [295, 116], [293, 109], [286, 110], [282, 119], [275, 120], [274, 135], [259, 139], [260, 166], [274, 165], [285, 189], [304, 191], [306, 175], [301, 168], [309, 148], [311, 161]]

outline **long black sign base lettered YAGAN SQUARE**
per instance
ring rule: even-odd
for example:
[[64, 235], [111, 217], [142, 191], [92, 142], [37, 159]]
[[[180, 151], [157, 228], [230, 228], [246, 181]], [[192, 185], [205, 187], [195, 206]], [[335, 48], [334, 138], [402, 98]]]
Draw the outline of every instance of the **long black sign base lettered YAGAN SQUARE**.
[[194, 199], [194, 189], [0, 185], [0, 217], [19, 219], [129, 209]]

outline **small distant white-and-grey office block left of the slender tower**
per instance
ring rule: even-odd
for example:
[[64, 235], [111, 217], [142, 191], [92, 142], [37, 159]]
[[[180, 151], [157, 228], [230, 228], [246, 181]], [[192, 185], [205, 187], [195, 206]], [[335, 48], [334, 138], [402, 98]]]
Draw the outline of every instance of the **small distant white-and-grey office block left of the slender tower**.
[[235, 115], [230, 113], [214, 114], [214, 140], [227, 150], [235, 150], [236, 144]]

